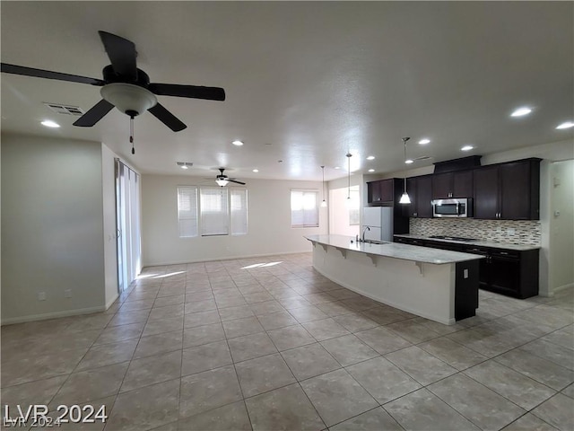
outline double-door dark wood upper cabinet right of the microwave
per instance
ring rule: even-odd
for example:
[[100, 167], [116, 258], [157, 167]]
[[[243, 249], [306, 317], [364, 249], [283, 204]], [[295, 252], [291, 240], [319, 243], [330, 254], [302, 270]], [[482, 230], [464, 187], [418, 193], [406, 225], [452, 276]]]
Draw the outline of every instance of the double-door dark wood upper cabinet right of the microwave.
[[474, 170], [474, 218], [538, 220], [540, 162], [525, 159]]

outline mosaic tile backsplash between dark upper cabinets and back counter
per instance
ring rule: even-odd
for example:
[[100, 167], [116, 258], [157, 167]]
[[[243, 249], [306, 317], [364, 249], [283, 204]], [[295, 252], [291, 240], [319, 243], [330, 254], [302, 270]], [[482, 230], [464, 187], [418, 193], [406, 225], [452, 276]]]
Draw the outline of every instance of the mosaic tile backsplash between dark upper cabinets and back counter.
[[451, 235], [482, 241], [541, 245], [539, 220], [474, 220], [474, 218], [411, 218], [413, 235]]

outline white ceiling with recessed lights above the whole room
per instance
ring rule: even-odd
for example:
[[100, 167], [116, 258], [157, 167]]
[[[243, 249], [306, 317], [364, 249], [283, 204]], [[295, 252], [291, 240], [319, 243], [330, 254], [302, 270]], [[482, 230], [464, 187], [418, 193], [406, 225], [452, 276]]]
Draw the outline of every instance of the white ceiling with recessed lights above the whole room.
[[143, 173], [331, 180], [348, 152], [352, 172], [402, 170], [403, 136], [432, 157], [413, 167], [573, 137], [556, 129], [574, 121], [572, 2], [2, 2], [1, 20], [4, 63], [101, 78], [103, 30], [135, 42], [152, 82], [225, 89], [158, 96], [187, 128], [146, 112], [132, 155], [118, 110], [76, 128], [42, 104], [89, 110], [99, 87], [2, 74], [3, 132], [103, 142]]

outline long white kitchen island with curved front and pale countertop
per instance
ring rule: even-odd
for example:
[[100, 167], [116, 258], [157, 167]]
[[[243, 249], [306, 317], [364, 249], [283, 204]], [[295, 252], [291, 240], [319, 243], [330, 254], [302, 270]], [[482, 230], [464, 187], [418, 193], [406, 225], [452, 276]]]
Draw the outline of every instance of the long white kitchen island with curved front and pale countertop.
[[447, 325], [478, 308], [483, 256], [351, 236], [309, 235], [313, 267], [353, 292]]

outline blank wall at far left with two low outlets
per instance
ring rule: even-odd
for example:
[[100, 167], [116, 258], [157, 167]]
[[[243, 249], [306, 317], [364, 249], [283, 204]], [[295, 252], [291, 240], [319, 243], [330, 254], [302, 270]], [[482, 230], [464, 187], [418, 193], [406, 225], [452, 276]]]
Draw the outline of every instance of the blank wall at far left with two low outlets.
[[1, 151], [2, 322], [103, 310], [101, 145], [3, 135]]

